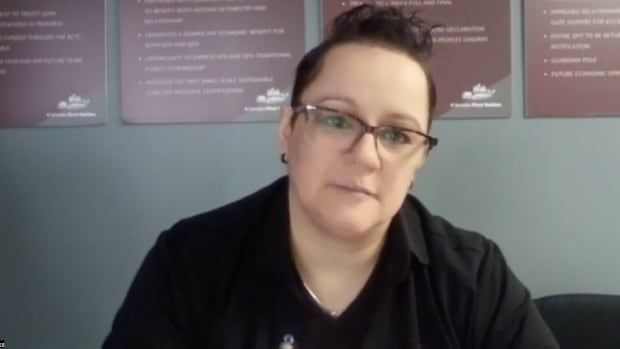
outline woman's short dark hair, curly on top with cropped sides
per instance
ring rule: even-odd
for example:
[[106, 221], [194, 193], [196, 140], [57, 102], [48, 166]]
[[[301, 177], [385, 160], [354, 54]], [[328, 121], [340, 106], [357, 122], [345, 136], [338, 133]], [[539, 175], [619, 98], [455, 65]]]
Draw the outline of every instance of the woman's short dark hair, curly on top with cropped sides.
[[291, 106], [301, 103], [301, 94], [319, 75], [330, 49], [346, 43], [378, 44], [406, 53], [422, 67], [428, 85], [430, 129], [437, 104], [435, 82], [427, 66], [433, 47], [431, 30], [434, 27], [422, 20], [417, 11], [406, 14], [396, 7], [364, 4], [341, 13], [332, 22], [325, 40], [299, 62]]

